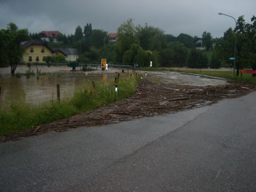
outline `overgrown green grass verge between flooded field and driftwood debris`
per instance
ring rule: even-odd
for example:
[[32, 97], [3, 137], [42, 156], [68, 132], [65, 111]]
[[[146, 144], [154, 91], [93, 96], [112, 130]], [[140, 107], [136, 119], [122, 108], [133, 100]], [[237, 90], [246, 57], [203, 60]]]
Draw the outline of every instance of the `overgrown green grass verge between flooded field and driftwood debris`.
[[49, 101], [32, 106], [24, 97], [20, 101], [7, 101], [8, 104], [0, 109], [0, 135], [33, 128], [126, 98], [135, 92], [135, 86], [139, 81], [139, 76], [127, 79], [120, 77], [117, 97], [114, 83], [96, 82], [92, 87], [88, 82], [77, 87], [74, 96], [63, 99], [61, 103]]

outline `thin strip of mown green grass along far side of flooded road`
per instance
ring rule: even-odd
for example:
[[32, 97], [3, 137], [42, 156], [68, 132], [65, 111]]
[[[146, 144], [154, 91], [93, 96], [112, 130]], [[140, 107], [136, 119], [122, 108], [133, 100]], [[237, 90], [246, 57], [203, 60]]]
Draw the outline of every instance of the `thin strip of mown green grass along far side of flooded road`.
[[161, 70], [161, 71], [177, 71], [183, 73], [193, 73], [193, 74], [202, 74], [202, 75], [210, 75], [214, 77], [224, 77], [229, 78], [234, 81], [244, 81], [248, 83], [255, 83], [256, 84], [256, 77], [252, 77], [252, 74], [243, 74], [243, 77], [233, 77], [233, 71], [219, 71], [219, 70], [200, 70], [200, 69], [172, 69], [172, 68], [165, 68], [165, 67], [155, 67], [155, 68], [143, 68], [143, 69], [150, 69], [150, 70]]

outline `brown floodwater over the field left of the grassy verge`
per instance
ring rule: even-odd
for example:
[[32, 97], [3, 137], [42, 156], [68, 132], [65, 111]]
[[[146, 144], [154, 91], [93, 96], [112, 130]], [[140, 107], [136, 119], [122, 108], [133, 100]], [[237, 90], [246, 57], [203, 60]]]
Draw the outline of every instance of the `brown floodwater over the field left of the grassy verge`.
[[[37, 70], [38, 69], [38, 70]], [[0, 69], [1, 70], [1, 69]], [[44, 101], [57, 100], [57, 84], [60, 84], [61, 99], [71, 97], [77, 86], [91, 84], [91, 81], [115, 81], [115, 71], [70, 71], [69, 67], [31, 67], [35, 75], [27, 78], [25, 73], [27, 67], [19, 67], [18, 73], [21, 77], [12, 76], [5, 68], [0, 72], [0, 104], [5, 99], [17, 100], [24, 98], [31, 104], [40, 104]], [[40, 71], [40, 74], [37, 73]]]

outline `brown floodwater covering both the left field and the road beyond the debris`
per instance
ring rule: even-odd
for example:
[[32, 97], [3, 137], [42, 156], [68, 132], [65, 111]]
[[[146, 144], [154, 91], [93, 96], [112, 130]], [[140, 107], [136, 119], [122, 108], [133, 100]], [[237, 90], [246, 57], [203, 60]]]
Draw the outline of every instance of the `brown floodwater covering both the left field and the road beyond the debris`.
[[[43, 75], [37, 74], [37, 69]], [[28, 70], [26, 66], [18, 66], [16, 73], [25, 74]], [[18, 100], [24, 98], [28, 103], [40, 104], [45, 101], [57, 100], [57, 84], [60, 84], [61, 99], [71, 97], [74, 89], [83, 84], [90, 84], [91, 81], [115, 81], [117, 73], [121, 74], [121, 68], [109, 68], [108, 71], [72, 72], [70, 67], [35, 67], [31, 71], [34, 76], [27, 78], [23, 75], [20, 78], [13, 77], [10, 74], [10, 68], [0, 68], [0, 106], [3, 106], [5, 100]], [[131, 70], [125, 70], [128, 75]], [[180, 74], [171, 71], [138, 71], [145, 74], [153, 83], [172, 83], [186, 84], [196, 86], [224, 85], [226, 81], [210, 79], [187, 74]]]

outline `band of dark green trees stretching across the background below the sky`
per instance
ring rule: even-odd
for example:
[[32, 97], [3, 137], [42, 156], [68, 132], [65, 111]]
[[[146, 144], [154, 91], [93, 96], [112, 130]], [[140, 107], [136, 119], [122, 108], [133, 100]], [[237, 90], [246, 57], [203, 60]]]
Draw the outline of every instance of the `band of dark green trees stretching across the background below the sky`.
[[[82, 62], [99, 62], [101, 58], [107, 58], [108, 62], [136, 63], [140, 67], [147, 67], [152, 61], [155, 67], [219, 68], [223, 64], [231, 63], [229, 57], [234, 55], [236, 36], [237, 70], [245, 67], [256, 69], [256, 17], [252, 17], [250, 24], [245, 23], [244, 16], [240, 16], [237, 21], [236, 28], [226, 30], [222, 40], [216, 42], [210, 58], [205, 54], [205, 51], [212, 50], [212, 36], [209, 32], [202, 33], [205, 51], [201, 51], [195, 47], [197, 36], [182, 33], [175, 37], [148, 24], [135, 26], [132, 19], [118, 27], [118, 39], [115, 42], [109, 40], [107, 31], [92, 29], [91, 24], [86, 24], [83, 28], [77, 26], [74, 34], [58, 35], [58, 43], [45, 43], [49, 47], [79, 49], [81, 55], [78, 61]], [[22, 40], [40, 39], [39, 34], [28, 34], [27, 30], [18, 30], [17, 26], [14, 26], [16, 25], [10, 23], [7, 30], [0, 30], [0, 49], [3, 53], [0, 66], [18, 63], [13, 61], [13, 58], [19, 58], [22, 51], [13, 52], [15, 57], [8, 53], [8, 50], [13, 50], [14, 44], [19, 48]], [[14, 36], [17, 37], [16, 40], [10, 40]]]

